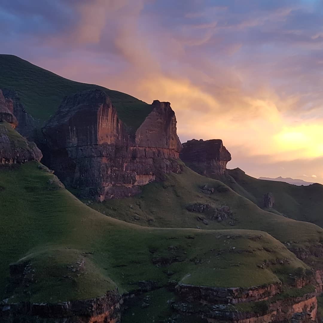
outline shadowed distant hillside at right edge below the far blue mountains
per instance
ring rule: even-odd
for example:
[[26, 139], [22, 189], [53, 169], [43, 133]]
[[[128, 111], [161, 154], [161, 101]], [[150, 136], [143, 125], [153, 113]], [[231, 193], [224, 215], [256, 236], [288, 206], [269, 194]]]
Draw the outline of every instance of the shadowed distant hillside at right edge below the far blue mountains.
[[[258, 180], [240, 169], [228, 170], [234, 179], [230, 187], [238, 193], [248, 192], [244, 196], [262, 206], [265, 193], [272, 192], [275, 198], [274, 209], [289, 218], [308, 221], [323, 227], [323, 185], [296, 186], [285, 182]], [[275, 210], [273, 210], [275, 212]]]

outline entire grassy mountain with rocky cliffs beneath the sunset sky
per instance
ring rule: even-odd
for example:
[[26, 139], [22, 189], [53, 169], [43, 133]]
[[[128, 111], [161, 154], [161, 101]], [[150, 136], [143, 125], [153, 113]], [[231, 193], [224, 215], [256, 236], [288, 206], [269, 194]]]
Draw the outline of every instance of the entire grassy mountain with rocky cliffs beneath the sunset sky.
[[[182, 149], [168, 102], [0, 67], [1, 322], [318, 322], [323, 229], [257, 205], [222, 141]], [[319, 207], [316, 185], [286, 191]]]

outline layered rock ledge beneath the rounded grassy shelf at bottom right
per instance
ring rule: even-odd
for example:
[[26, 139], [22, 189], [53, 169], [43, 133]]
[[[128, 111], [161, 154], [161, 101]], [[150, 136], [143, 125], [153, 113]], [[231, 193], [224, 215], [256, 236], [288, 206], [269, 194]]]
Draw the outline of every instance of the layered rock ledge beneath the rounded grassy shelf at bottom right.
[[[319, 321], [314, 292], [298, 297], [283, 296], [279, 283], [248, 289], [179, 284], [175, 290], [180, 300], [172, 303], [174, 310], [187, 316], [200, 316], [210, 323]], [[246, 311], [241, 307], [234, 307], [246, 302], [251, 302]]]

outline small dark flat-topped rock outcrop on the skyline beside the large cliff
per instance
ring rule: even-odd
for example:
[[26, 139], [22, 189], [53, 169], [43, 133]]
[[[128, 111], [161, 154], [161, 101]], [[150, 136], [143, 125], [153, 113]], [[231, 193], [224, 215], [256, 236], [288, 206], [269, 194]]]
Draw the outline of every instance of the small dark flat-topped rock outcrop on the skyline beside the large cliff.
[[205, 175], [223, 175], [231, 154], [224, 147], [222, 140], [190, 140], [183, 143], [180, 158], [193, 171]]

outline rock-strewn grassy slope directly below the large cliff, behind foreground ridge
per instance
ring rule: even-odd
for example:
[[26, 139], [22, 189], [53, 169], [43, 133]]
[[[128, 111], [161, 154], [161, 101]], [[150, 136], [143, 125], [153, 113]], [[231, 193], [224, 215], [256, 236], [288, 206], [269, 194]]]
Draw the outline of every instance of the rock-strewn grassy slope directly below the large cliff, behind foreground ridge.
[[[204, 184], [214, 187], [214, 194], [207, 195], [200, 189]], [[222, 182], [201, 176], [188, 167], [182, 174], [169, 174], [165, 182], [151, 183], [140, 195], [127, 199], [93, 203], [90, 206], [101, 213], [120, 220], [157, 227], [193, 227], [203, 229], [253, 229], [266, 231], [276, 239], [308, 245], [309, 241], [323, 240], [323, 230], [310, 223], [302, 223], [278, 214], [261, 210], [245, 197], [228, 188], [218, 193]], [[227, 205], [234, 214], [235, 225], [228, 221], [208, 220], [208, 225], [197, 221], [197, 215], [186, 210], [191, 203], [208, 203], [214, 207]]]

